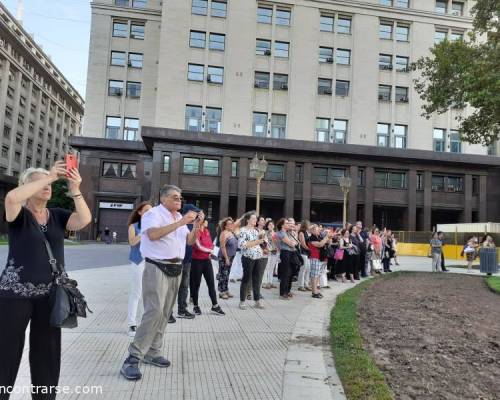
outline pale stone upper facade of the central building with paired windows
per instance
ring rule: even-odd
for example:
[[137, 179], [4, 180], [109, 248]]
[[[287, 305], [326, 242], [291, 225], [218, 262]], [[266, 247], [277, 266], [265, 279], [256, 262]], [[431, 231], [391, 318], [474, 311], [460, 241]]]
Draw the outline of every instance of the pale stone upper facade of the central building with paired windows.
[[92, 3], [84, 135], [141, 126], [486, 154], [427, 120], [409, 65], [463, 38], [472, 1]]

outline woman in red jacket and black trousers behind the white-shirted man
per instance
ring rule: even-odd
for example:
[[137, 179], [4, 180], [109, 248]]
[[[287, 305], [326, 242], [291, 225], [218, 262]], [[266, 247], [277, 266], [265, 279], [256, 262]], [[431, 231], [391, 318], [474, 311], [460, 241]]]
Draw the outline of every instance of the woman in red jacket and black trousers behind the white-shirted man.
[[203, 219], [203, 214], [198, 214], [198, 218], [202, 219], [200, 221], [201, 227], [197, 232], [196, 242], [193, 245], [189, 275], [189, 292], [193, 299], [193, 313], [201, 315], [201, 309], [198, 305], [198, 294], [200, 292], [201, 277], [203, 276], [207, 283], [208, 295], [210, 296], [210, 300], [212, 300], [211, 311], [214, 314], [225, 315], [226, 313], [222, 311], [217, 303], [217, 294], [215, 292], [214, 269], [212, 267], [212, 260], [210, 259], [214, 250], [214, 244], [208, 230], [208, 221]]

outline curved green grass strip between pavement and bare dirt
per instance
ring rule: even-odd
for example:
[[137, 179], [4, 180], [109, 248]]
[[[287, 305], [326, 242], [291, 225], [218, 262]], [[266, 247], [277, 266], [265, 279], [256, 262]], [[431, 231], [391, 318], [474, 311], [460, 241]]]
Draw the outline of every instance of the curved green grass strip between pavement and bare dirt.
[[335, 367], [349, 400], [394, 399], [384, 375], [364, 349], [358, 326], [359, 299], [375, 280], [367, 280], [338, 296], [331, 312], [330, 334]]

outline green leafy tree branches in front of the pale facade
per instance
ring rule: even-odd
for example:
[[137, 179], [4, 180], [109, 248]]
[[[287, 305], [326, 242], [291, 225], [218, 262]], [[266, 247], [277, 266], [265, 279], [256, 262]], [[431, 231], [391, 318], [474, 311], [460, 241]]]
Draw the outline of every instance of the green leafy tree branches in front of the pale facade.
[[444, 40], [413, 64], [420, 72], [415, 89], [428, 119], [435, 112], [472, 107], [472, 113], [457, 117], [461, 138], [487, 146], [500, 135], [500, 0], [478, 0], [471, 13], [466, 40]]

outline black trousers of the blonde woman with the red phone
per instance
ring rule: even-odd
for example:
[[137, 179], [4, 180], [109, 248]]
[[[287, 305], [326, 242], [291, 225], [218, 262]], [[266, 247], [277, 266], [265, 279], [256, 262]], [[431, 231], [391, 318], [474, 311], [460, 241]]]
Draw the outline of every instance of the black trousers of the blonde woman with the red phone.
[[[61, 329], [49, 325], [50, 303], [47, 297], [40, 299], [0, 298], [0, 387], [14, 385], [24, 348], [24, 334], [30, 323], [29, 362], [31, 383], [38, 391], [34, 400], [56, 398], [55, 387], [59, 383], [61, 369]], [[45, 387], [47, 389], [40, 389]], [[53, 387], [53, 393], [50, 393]], [[10, 396], [0, 393], [1, 400]]]

